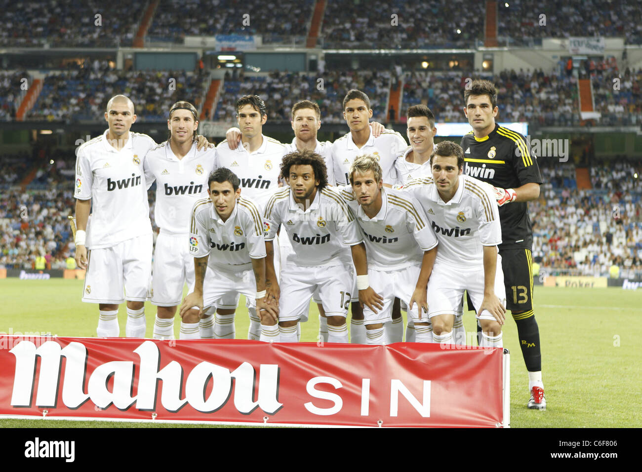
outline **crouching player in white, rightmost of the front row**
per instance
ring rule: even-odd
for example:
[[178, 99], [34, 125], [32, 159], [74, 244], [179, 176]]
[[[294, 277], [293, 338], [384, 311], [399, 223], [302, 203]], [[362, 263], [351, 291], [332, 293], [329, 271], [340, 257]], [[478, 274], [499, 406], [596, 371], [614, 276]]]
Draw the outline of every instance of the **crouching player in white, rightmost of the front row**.
[[[464, 152], [451, 141], [437, 144], [432, 177], [404, 190], [421, 203], [437, 234], [439, 249], [428, 281], [428, 318], [433, 342], [453, 344], [453, 323], [464, 290], [473, 300], [485, 347], [502, 347], [506, 295], [501, 271], [501, 225], [490, 189], [464, 171]], [[410, 313], [408, 313], [410, 315]], [[428, 342], [428, 322], [412, 311], [418, 342]]]

